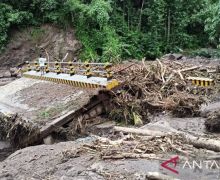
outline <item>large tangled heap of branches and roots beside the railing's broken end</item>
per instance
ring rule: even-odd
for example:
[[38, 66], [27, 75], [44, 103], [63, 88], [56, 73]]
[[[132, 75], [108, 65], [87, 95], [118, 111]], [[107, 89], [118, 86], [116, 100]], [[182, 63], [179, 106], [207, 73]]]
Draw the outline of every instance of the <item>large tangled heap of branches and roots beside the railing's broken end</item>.
[[190, 94], [186, 77], [201, 74], [199, 68], [175, 61], [143, 60], [120, 71], [117, 79], [125, 83], [113, 99], [111, 118], [134, 123], [135, 115], [147, 121], [149, 114], [162, 111], [177, 117], [197, 116], [204, 99]]

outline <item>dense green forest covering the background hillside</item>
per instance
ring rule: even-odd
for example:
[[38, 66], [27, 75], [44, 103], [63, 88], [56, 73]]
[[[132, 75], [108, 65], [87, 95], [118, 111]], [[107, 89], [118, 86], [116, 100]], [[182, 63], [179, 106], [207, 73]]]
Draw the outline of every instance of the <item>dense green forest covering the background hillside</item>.
[[118, 60], [218, 48], [218, 0], [1, 0], [0, 49], [14, 28], [73, 27], [82, 58]]

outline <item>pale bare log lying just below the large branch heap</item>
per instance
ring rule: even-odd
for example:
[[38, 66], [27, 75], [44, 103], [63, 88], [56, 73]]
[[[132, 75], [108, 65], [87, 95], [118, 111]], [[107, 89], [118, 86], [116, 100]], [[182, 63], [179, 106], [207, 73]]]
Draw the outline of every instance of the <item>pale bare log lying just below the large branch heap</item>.
[[120, 126], [115, 126], [113, 130], [116, 132], [133, 133], [133, 134], [139, 134], [139, 135], [144, 135], [144, 136], [166, 135], [164, 132], [161, 132], [161, 131], [151, 131], [147, 129], [127, 128], [127, 127], [120, 127]]

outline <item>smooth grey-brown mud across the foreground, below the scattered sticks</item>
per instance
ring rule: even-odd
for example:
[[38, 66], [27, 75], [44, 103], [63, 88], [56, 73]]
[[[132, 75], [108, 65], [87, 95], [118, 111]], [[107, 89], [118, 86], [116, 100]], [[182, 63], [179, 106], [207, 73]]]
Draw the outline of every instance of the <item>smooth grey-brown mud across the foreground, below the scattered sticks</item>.
[[[160, 172], [178, 179], [218, 179], [216, 169], [191, 169], [178, 163], [177, 173], [162, 168], [161, 163], [175, 154], [158, 154], [158, 160], [102, 160], [98, 154], [83, 153], [80, 147], [91, 144], [88, 137], [75, 142], [40, 145], [16, 151], [0, 162], [1, 179], [146, 179], [148, 172]], [[181, 158], [181, 157], [180, 157]], [[115, 168], [117, 167], [117, 168]]]

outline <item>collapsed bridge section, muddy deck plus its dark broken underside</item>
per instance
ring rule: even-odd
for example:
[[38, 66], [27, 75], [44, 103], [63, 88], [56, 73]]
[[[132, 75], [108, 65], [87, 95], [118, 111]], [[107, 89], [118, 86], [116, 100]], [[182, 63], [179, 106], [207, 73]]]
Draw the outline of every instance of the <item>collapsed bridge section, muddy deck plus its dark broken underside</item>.
[[70, 122], [106, 111], [109, 91], [20, 78], [0, 87], [0, 139], [19, 147], [40, 143]]

